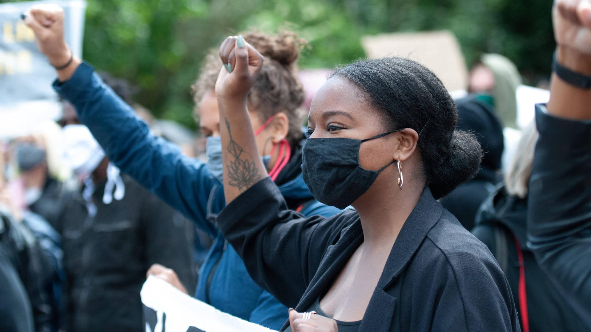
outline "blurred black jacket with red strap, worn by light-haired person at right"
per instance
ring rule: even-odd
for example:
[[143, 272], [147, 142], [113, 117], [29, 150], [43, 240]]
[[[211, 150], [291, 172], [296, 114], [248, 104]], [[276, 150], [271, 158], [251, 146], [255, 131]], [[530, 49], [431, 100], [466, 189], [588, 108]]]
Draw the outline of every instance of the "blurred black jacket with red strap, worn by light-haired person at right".
[[[591, 331], [591, 327], [584, 324], [570, 309], [560, 291], [535, 261], [534, 254], [527, 248], [526, 222], [527, 199], [510, 196], [504, 187], [500, 187], [482, 204], [476, 227], [472, 229], [472, 234], [488, 246], [497, 259], [506, 260], [505, 275], [518, 308], [519, 323], [523, 323], [523, 313], [519, 307], [519, 261], [515, 240], [521, 248], [525, 267], [530, 331]], [[505, 242], [497, 238], [502, 236], [505, 236]], [[498, 246], [504, 248], [498, 250]], [[499, 255], [504, 257], [499, 258]]]

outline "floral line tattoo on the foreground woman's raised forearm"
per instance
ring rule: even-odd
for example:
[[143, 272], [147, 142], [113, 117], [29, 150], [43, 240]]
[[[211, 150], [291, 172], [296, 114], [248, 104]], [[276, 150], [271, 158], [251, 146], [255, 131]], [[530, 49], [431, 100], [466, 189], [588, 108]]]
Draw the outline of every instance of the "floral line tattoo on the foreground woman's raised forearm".
[[[237, 187], [242, 193], [250, 188], [253, 184], [261, 180], [261, 175], [258, 174], [254, 159], [248, 152], [244, 152], [242, 147], [232, 139], [232, 132], [230, 131], [230, 123], [226, 121], [226, 128], [228, 128], [228, 135], [230, 136], [230, 143], [228, 144], [229, 163], [226, 165], [228, 170], [228, 184], [232, 187]], [[233, 157], [233, 160], [232, 160]]]

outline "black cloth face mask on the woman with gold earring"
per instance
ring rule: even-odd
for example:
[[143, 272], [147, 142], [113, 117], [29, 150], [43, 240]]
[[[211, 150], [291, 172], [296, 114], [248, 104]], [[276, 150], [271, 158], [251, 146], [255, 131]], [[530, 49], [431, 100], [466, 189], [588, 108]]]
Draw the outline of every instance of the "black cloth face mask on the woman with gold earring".
[[351, 205], [371, 187], [381, 171], [395, 162], [392, 160], [378, 171], [365, 170], [359, 165], [361, 144], [402, 129], [363, 140], [342, 137], [306, 139], [301, 170], [312, 196], [339, 209]]

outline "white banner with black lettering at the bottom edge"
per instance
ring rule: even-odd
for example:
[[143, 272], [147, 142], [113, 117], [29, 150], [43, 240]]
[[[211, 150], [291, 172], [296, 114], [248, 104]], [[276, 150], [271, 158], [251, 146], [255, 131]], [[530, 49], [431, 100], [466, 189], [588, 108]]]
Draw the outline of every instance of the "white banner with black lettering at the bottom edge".
[[146, 332], [277, 332], [222, 313], [154, 276], [140, 294]]

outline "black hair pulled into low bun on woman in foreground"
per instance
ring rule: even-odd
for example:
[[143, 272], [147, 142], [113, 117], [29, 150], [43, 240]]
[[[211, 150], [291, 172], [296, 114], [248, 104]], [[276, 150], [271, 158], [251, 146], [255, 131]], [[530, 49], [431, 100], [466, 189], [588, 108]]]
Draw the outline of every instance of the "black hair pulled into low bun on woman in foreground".
[[482, 148], [474, 135], [456, 130], [456, 105], [426, 67], [407, 58], [387, 57], [349, 64], [333, 76], [356, 84], [383, 113], [387, 129], [412, 128], [420, 133], [423, 172], [435, 198], [476, 175]]

